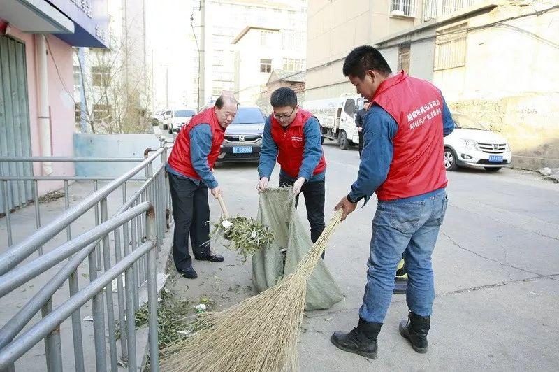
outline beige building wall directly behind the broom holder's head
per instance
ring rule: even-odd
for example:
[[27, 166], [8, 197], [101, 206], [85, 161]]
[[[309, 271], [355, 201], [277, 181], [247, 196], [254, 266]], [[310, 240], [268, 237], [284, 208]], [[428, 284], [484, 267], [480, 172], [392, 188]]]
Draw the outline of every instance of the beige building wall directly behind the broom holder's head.
[[307, 34], [307, 99], [354, 92], [342, 74], [356, 46], [471, 6], [480, 0], [310, 0]]

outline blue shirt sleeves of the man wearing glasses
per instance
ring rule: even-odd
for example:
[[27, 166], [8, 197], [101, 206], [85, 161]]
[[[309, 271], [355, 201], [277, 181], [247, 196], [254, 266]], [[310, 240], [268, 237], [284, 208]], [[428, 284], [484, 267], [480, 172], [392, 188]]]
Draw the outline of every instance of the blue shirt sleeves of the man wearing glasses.
[[[262, 148], [260, 151], [260, 162], [258, 165], [258, 173], [260, 178], [266, 177], [268, 180], [272, 176], [275, 162], [277, 159], [277, 144], [272, 137], [272, 119], [271, 115], [266, 119], [264, 124], [264, 133], [262, 135]], [[298, 177], [303, 177], [307, 182], [315, 182], [324, 180], [326, 171], [312, 176], [314, 169], [319, 165], [322, 157], [322, 144], [320, 143], [320, 124], [316, 117], [310, 117], [307, 122], [303, 123], [303, 134], [305, 134], [305, 148], [303, 150], [303, 162], [299, 168]], [[288, 180], [295, 181], [283, 170], [279, 171], [279, 175]]]

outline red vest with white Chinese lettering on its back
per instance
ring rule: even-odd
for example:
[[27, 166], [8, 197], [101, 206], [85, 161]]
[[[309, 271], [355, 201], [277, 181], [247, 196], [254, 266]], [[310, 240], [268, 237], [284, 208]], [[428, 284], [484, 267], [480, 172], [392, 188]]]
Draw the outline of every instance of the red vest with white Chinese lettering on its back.
[[402, 199], [446, 187], [439, 90], [402, 71], [381, 83], [372, 101], [398, 123], [390, 171], [377, 189], [379, 200]]

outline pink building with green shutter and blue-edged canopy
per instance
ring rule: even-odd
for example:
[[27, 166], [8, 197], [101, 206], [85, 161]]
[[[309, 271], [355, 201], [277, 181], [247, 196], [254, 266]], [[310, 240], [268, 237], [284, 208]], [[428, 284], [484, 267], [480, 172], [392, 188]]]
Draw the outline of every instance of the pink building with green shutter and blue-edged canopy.
[[[73, 47], [106, 48], [106, 2], [6, 0], [0, 7], [0, 155], [71, 156]], [[4, 176], [73, 175], [71, 163], [3, 163]], [[32, 199], [12, 183], [10, 208]], [[61, 187], [40, 185], [43, 194]], [[0, 210], [3, 210], [0, 206]]]

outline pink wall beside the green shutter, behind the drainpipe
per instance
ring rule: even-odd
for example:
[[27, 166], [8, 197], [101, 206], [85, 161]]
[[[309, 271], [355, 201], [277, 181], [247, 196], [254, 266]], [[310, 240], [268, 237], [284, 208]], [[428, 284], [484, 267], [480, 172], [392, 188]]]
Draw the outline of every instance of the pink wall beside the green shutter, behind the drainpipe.
[[[10, 34], [25, 44], [27, 61], [27, 92], [29, 94], [29, 122], [31, 129], [31, 152], [33, 156], [41, 156], [41, 131], [38, 127], [38, 84], [36, 36], [24, 34], [12, 28]], [[72, 47], [55, 36], [47, 35], [50, 52], [48, 54], [48, 99], [50, 106], [52, 155], [73, 156], [73, 132], [75, 131], [73, 96], [73, 58]], [[56, 62], [53, 62], [53, 58]], [[64, 84], [62, 83], [64, 82]], [[66, 92], [64, 85], [68, 92]], [[52, 163], [53, 176], [73, 176], [72, 163]], [[41, 164], [34, 164], [35, 176], [43, 176]], [[45, 192], [62, 187], [62, 183], [48, 181], [39, 183], [39, 192]]]

